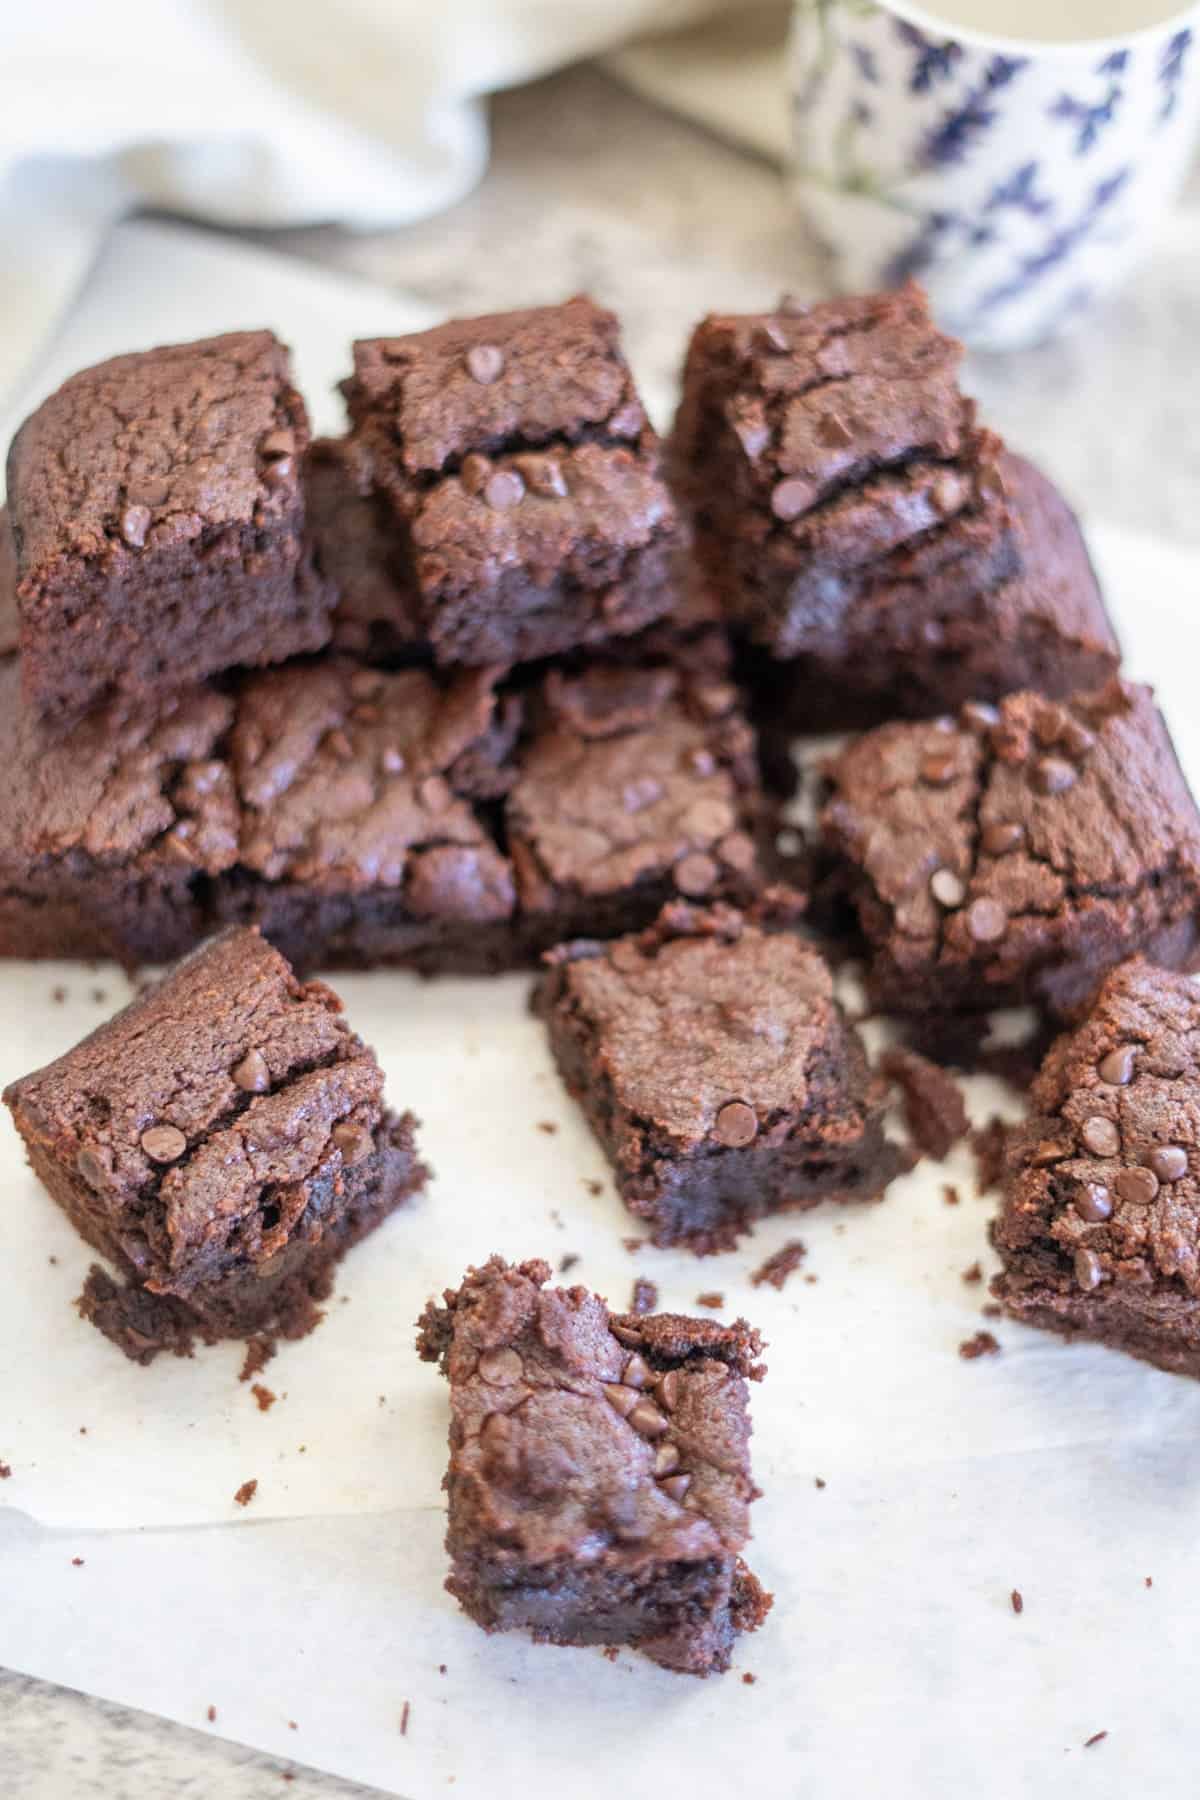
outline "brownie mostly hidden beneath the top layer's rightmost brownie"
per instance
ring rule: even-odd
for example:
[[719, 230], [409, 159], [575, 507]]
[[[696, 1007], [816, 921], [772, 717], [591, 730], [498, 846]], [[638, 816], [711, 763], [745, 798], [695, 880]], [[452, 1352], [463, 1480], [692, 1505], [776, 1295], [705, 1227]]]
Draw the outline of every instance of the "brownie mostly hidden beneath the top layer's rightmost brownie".
[[788, 662], [747, 655], [768, 734], [930, 718], [1020, 688], [1063, 698], [1117, 671], [1121, 650], [1074, 513], [1022, 457], [1004, 452], [997, 473], [1018, 572], [979, 581], [955, 562], [923, 572], [916, 558], [891, 558], [824, 648]]

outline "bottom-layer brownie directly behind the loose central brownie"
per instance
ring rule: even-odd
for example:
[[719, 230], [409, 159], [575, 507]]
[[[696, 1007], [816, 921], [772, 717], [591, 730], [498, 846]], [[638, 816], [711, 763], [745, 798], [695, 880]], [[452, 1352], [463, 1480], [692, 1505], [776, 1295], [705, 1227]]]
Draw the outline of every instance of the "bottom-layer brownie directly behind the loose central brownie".
[[765, 824], [730, 682], [664, 664], [547, 675], [507, 797], [531, 941], [635, 931], [680, 893], [748, 898]]

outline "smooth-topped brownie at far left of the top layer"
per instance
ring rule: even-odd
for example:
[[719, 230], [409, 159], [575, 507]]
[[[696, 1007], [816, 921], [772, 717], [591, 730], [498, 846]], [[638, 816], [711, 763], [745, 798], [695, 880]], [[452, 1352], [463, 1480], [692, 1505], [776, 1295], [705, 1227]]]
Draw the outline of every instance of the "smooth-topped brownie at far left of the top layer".
[[9, 452], [25, 695], [61, 724], [329, 639], [304, 401], [270, 331], [85, 369]]

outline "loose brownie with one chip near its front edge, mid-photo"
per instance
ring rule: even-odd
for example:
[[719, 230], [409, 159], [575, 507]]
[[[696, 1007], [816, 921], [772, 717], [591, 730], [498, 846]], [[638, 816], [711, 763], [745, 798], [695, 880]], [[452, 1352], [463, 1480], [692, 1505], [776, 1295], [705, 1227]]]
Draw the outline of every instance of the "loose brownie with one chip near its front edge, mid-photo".
[[678, 904], [549, 963], [554, 1060], [655, 1244], [729, 1249], [763, 1213], [878, 1199], [907, 1166], [829, 968], [795, 932]]

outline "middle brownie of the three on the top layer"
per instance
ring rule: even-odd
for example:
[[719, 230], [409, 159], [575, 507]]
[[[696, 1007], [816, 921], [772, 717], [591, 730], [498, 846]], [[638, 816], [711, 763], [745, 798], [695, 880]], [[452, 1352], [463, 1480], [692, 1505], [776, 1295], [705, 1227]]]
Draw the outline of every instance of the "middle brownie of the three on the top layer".
[[[678, 526], [612, 313], [574, 299], [360, 342], [345, 394], [349, 481], [383, 502], [398, 614], [439, 662], [556, 655], [669, 608]], [[349, 605], [378, 623], [362, 581]]]

